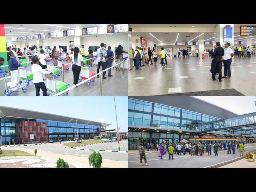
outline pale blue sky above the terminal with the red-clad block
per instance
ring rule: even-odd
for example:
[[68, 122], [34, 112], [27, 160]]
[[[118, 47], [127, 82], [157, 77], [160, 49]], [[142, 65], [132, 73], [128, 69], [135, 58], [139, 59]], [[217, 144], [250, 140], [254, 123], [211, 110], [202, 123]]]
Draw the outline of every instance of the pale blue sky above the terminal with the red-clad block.
[[[128, 96], [115, 96], [120, 132], [128, 131]], [[114, 96], [1, 97], [1, 106], [47, 112], [110, 124], [116, 129]]]

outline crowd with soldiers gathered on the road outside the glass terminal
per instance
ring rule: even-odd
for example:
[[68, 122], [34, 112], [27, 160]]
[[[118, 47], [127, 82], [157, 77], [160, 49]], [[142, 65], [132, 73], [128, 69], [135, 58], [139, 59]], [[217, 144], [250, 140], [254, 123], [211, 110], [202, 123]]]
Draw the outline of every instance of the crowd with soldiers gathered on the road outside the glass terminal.
[[[218, 151], [221, 150], [227, 150], [227, 154], [231, 154], [231, 149], [233, 154], [236, 154], [236, 149], [240, 152], [240, 157], [244, 156], [244, 142], [198, 142], [198, 143], [192, 143], [192, 142], [176, 142], [176, 143], [148, 143], [146, 145], [147, 151], [157, 151], [158, 157], [160, 159], [163, 159], [163, 156], [166, 155], [168, 152], [169, 154], [169, 160], [172, 157], [172, 160], [174, 160], [174, 154], [177, 155], [186, 155], [187, 153], [191, 155], [192, 157], [195, 156], [203, 156], [204, 153], [208, 153], [208, 155], [212, 155], [212, 150], [214, 152], [214, 156], [218, 156]], [[140, 164], [142, 164], [142, 159], [144, 159], [145, 165], [147, 163], [145, 149], [143, 144], [140, 144], [139, 147], [139, 154], [140, 154]]]

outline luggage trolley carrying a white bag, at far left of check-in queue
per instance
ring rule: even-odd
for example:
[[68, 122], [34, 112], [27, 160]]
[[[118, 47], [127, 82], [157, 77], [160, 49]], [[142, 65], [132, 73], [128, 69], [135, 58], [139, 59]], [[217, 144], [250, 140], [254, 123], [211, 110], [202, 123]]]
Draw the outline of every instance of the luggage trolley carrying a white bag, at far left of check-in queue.
[[24, 91], [24, 87], [28, 86], [27, 82], [18, 84], [16, 80], [11, 80], [9, 82], [6, 82], [7, 79], [11, 79], [13, 76], [11, 76], [11, 73], [3, 73], [0, 74], [0, 80], [4, 80], [6, 96], [10, 96], [14, 92], [19, 92], [18, 89], [22, 88], [23, 92], [26, 92], [26, 89]]

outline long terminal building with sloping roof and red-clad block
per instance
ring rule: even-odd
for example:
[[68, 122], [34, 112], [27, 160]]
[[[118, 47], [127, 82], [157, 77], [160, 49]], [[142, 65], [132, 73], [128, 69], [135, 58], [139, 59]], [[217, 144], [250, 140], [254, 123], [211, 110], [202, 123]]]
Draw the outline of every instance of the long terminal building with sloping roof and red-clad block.
[[[30, 141], [92, 139], [106, 132], [110, 124], [0, 106], [1, 144]], [[30, 138], [34, 136], [34, 139]]]

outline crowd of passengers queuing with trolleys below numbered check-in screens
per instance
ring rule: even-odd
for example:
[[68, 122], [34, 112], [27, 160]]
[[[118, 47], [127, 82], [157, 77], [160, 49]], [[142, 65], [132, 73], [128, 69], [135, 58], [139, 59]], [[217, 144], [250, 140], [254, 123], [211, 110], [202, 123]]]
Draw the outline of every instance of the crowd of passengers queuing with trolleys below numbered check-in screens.
[[[88, 65], [92, 66], [92, 59], [93, 58], [93, 51], [92, 46], [88, 48], [88, 56], [85, 56], [84, 52], [84, 45], [81, 46], [79, 49], [78, 47], [71, 48], [69, 52], [67, 52], [64, 46], [60, 46], [60, 50], [54, 46], [53, 49], [49, 48], [44, 50], [42, 46], [39, 48], [34, 46], [26, 46], [21, 50], [17, 48], [16, 45], [12, 45], [6, 48], [7, 50], [7, 61], [9, 71], [12, 76], [12, 80], [15, 80], [17, 83], [19, 82], [18, 76], [18, 68], [21, 67], [20, 60], [24, 59], [25, 56], [28, 56], [28, 60], [32, 64], [32, 73], [33, 73], [33, 80], [32, 82], [35, 84], [36, 88], [36, 96], [39, 96], [40, 89], [43, 91], [43, 95], [47, 96], [47, 89], [44, 84], [44, 74], [50, 74], [51, 72], [47, 71], [46, 61], [52, 60], [54, 62], [54, 66], [58, 66], [58, 59], [65, 57], [71, 62], [71, 69], [73, 72], [73, 84], [78, 84], [81, 66], [84, 65], [84, 57], [88, 59]], [[100, 66], [102, 66], [102, 70], [106, 68], [110, 68], [112, 66], [113, 61], [115, 60], [116, 64], [120, 63], [123, 58], [123, 48], [121, 45], [118, 47], [114, 52], [111, 50], [111, 46], [106, 48], [106, 44], [101, 43], [100, 48], [97, 49], [97, 61], [98, 61], [98, 68], [97, 73], [99, 73]], [[4, 63], [4, 58], [0, 58], [0, 65]], [[36, 65], [34, 65], [36, 64]], [[120, 65], [116, 66], [116, 70], [120, 70]], [[7, 73], [8, 70], [0, 69], [0, 73]], [[106, 71], [103, 72], [103, 79], [106, 79]], [[98, 75], [97, 78], [100, 76]], [[108, 77], [112, 77], [111, 69], [108, 70]]]

